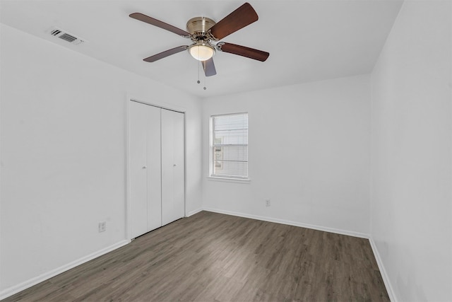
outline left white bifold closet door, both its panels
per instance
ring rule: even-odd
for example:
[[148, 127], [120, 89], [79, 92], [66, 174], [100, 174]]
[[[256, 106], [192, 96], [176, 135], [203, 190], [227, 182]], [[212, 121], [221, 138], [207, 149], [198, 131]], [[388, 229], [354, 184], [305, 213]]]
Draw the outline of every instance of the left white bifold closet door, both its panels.
[[131, 237], [162, 226], [160, 108], [130, 104]]

